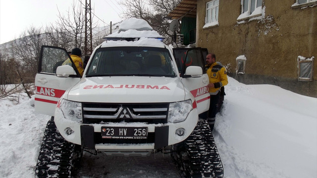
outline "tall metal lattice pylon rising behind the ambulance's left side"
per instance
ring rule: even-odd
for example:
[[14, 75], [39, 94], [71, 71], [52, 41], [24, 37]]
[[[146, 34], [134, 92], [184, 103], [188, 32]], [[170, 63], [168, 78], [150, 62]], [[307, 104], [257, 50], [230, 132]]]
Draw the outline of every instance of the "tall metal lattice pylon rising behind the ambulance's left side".
[[[89, 2], [88, 2], [89, 1]], [[90, 55], [93, 52], [93, 33], [91, 21], [91, 0], [86, 0], [85, 4], [85, 51], [84, 55]]]

